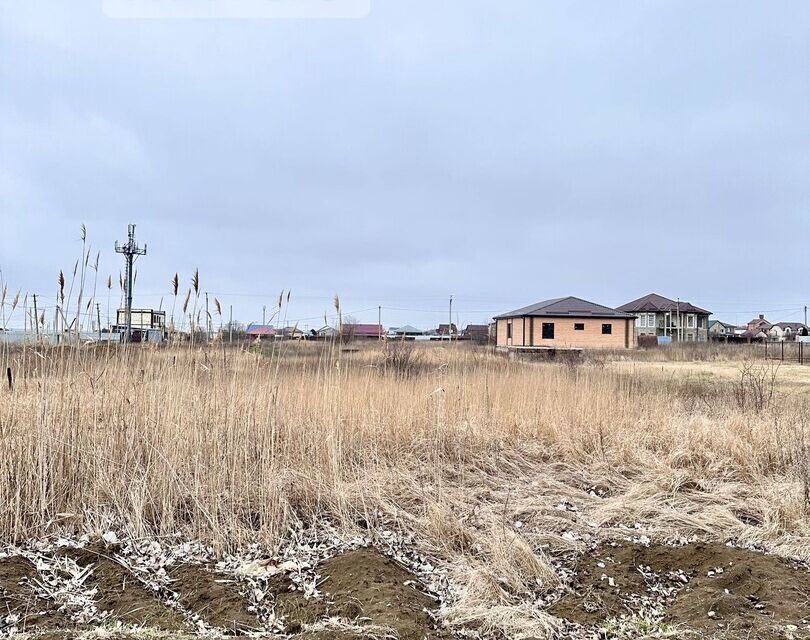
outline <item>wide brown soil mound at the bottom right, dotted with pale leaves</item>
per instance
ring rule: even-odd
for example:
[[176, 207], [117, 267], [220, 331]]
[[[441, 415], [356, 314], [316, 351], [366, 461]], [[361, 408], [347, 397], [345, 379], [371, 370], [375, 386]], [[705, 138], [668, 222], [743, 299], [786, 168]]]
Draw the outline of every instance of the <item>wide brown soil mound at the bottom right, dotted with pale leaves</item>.
[[[810, 572], [722, 544], [603, 546], [577, 567], [574, 593], [551, 613], [583, 625], [622, 614], [658, 617], [701, 637], [810, 636]], [[801, 635], [798, 635], [801, 634]]]

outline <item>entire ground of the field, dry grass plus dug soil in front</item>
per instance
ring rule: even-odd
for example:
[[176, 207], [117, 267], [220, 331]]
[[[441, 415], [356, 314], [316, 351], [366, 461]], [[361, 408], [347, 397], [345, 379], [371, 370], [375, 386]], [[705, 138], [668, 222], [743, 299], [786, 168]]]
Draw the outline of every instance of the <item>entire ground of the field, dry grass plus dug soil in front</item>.
[[744, 357], [6, 352], [0, 634], [810, 637], [810, 367]]

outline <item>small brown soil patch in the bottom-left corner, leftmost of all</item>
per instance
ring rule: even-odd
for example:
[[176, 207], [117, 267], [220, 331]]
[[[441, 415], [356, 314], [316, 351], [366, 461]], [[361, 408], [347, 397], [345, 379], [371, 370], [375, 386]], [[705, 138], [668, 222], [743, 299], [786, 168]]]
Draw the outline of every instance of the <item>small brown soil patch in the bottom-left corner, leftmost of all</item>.
[[36, 596], [32, 583], [37, 575], [36, 567], [27, 558], [0, 559], [0, 632], [55, 628], [66, 623], [52, 602]]

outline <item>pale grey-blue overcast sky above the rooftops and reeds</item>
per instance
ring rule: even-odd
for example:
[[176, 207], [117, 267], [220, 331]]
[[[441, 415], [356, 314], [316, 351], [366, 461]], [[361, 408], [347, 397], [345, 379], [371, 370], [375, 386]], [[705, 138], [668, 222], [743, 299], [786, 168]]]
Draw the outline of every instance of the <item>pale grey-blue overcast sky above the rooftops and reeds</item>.
[[451, 294], [462, 324], [564, 295], [655, 291], [732, 322], [810, 303], [807, 0], [0, 6], [11, 291], [53, 304], [84, 223], [115, 292], [133, 222], [137, 306], [170, 307], [174, 273], [185, 291], [199, 267], [243, 321], [282, 289], [309, 327], [335, 293], [418, 326]]

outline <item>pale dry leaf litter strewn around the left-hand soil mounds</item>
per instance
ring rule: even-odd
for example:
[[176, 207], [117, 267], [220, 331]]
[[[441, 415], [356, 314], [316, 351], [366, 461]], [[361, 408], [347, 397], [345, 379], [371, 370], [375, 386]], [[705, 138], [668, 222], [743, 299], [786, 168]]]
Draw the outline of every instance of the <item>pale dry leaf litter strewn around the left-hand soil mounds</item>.
[[[190, 621], [199, 635], [216, 636], [224, 630], [208, 625], [198, 614], [185, 609], [180, 594], [172, 588], [170, 572], [180, 565], [200, 565], [236, 579], [239, 592], [248, 602], [266, 632], [282, 634], [286, 624], [274, 612], [270, 579], [283, 577], [291, 590], [307, 598], [321, 596], [321, 576], [317, 567], [323, 561], [341, 553], [373, 547], [413, 572], [419, 582], [410, 586], [427, 593], [444, 605], [455, 601], [460, 588], [452, 584], [446, 568], [417, 550], [412, 536], [393, 530], [377, 530], [371, 536], [345, 535], [327, 522], [317, 526], [300, 526], [288, 531], [284, 543], [272, 554], [259, 545], [250, 545], [237, 553], [217, 558], [213, 547], [172, 539], [129, 539], [114, 531], [105, 532], [101, 541], [114, 545], [113, 559], [125, 567], [158, 599], [177, 610]], [[69, 555], [60, 551], [81, 549], [98, 539], [84, 535], [76, 540], [65, 537], [30, 541], [20, 548], [8, 548], [0, 558], [21, 555], [32, 562], [38, 572], [35, 580], [36, 595], [54, 602], [57, 610], [76, 624], [102, 624], [107, 612], [99, 611], [95, 604], [95, 587], [91, 576], [94, 566], [80, 567]], [[17, 631], [16, 618], [0, 618], [0, 635]], [[122, 626], [122, 625], [119, 625]], [[123, 628], [123, 627], [122, 627]], [[133, 626], [133, 629], [135, 627]]]

